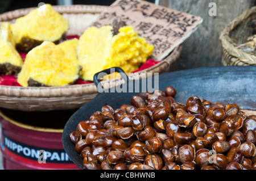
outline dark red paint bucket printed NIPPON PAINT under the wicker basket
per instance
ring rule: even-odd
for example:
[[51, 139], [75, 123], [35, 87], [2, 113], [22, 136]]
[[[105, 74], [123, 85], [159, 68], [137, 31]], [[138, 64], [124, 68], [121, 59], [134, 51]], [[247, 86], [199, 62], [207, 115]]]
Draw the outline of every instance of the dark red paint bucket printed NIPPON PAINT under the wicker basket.
[[1, 151], [6, 170], [79, 169], [65, 153], [61, 136], [73, 111], [0, 110]]

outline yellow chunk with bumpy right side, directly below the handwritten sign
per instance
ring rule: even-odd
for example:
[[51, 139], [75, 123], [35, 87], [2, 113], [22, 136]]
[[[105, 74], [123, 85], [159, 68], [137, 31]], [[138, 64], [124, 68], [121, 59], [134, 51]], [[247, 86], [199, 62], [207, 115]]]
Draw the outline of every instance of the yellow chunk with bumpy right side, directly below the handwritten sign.
[[90, 27], [82, 34], [77, 54], [82, 66], [81, 77], [93, 81], [98, 71], [119, 66], [126, 73], [137, 70], [152, 54], [154, 46], [138, 36], [133, 27], [119, 28], [112, 34], [112, 26]]

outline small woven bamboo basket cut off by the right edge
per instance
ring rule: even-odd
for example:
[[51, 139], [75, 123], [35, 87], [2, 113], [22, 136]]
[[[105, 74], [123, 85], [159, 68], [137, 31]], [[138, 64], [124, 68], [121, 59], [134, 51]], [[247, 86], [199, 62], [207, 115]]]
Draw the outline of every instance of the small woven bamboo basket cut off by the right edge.
[[249, 66], [256, 65], [256, 54], [247, 53], [238, 46], [246, 43], [253, 35], [251, 22], [256, 19], [256, 6], [243, 12], [220, 33], [222, 44], [222, 65]]

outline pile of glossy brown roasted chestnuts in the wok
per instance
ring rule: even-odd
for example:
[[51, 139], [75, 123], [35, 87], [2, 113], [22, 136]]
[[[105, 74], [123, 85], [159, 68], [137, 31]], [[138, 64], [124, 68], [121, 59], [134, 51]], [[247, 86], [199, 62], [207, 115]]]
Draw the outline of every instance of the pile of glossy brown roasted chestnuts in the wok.
[[175, 102], [167, 86], [117, 110], [103, 106], [70, 134], [85, 169], [256, 169], [256, 116], [197, 96]]

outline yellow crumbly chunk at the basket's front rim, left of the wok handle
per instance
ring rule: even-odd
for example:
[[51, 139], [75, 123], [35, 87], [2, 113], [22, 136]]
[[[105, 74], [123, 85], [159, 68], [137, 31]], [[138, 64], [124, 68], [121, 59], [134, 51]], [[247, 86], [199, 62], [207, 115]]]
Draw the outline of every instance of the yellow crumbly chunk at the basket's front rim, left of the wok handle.
[[67, 40], [59, 45], [44, 41], [26, 56], [18, 75], [18, 83], [24, 87], [28, 81], [44, 86], [67, 86], [79, 78], [80, 65], [76, 56], [78, 40]]

